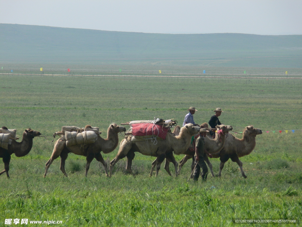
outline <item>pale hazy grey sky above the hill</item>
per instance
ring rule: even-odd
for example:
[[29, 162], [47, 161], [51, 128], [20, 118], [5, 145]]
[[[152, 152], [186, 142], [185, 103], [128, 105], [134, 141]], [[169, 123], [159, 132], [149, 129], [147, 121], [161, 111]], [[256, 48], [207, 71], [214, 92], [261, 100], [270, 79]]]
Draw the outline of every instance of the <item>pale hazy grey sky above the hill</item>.
[[301, 0], [0, 0], [0, 9], [0, 23], [8, 24], [174, 34], [302, 34]]

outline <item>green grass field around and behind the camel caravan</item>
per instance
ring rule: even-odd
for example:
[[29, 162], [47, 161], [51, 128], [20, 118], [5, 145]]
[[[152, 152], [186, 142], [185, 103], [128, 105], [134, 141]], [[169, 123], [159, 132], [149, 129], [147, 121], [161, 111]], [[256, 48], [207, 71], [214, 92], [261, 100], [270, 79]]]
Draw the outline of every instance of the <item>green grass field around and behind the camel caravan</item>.
[[[226, 69], [215, 70], [223, 74]], [[284, 226], [301, 225], [302, 84], [299, 79], [8, 74], [0, 75], [0, 79], [1, 126], [16, 128], [20, 137], [29, 127], [52, 136], [62, 126], [86, 124], [100, 127], [101, 136], [106, 137], [110, 123], [154, 117], [174, 118], [182, 125], [190, 106], [198, 110], [194, 115], [196, 123], [207, 122], [213, 110], [220, 107], [224, 110], [220, 116], [222, 123], [232, 125], [235, 130], [253, 125], [263, 131], [256, 138], [255, 150], [240, 158], [247, 179], [241, 177], [237, 164], [229, 160], [220, 178], [209, 176], [207, 182], [198, 183], [187, 182], [190, 161], [177, 178], [170, 177], [163, 164], [159, 176], [149, 178], [155, 158], [141, 154], [134, 158], [135, 177], [125, 173], [123, 159], [115, 166], [111, 178], [93, 160], [85, 178], [85, 157], [69, 154], [66, 160], [69, 178], [63, 177], [59, 170], [59, 159], [43, 178], [54, 143], [51, 137], [34, 138], [27, 156], [11, 156], [10, 179], [5, 174], [0, 176], [0, 226], [11, 226], [5, 225], [5, 219], [16, 218], [63, 221], [58, 226], [232, 226], [236, 218], [295, 219], [297, 225]], [[289, 131], [279, 133], [279, 130]], [[234, 135], [241, 138], [240, 134]], [[103, 155], [104, 159], [109, 162], [117, 151], [118, 147]], [[175, 156], [177, 160], [182, 157]], [[218, 173], [220, 161], [210, 161]], [[172, 173], [173, 168], [171, 165]], [[41, 225], [46, 224], [28, 226]]]

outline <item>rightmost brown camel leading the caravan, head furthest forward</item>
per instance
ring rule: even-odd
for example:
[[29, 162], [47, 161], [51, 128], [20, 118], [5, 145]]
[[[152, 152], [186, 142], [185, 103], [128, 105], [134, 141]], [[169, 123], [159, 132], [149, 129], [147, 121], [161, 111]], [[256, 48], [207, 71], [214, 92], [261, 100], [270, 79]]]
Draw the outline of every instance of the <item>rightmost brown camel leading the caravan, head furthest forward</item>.
[[[238, 164], [242, 176], [244, 178], [247, 177], [243, 171], [242, 162], [239, 160], [239, 158], [249, 155], [254, 150], [256, 146], [256, 136], [259, 134], [262, 134], [262, 131], [260, 129], [254, 128], [252, 125], [247, 126], [243, 130], [242, 139], [238, 139], [232, 134], [229, 134], [229, 136], [226, 137], [226, 142], [224, 144], [223, 149], [220, 152], [214, 153], [209, 151], [209, 153], [213, 155], [213, 158], [220, 158], [218, 176], [221, 176], [221, 171], [223, 169], [224, 163], [226, 163], [227, 160], [231, 159], [233, 162], [236, 162]], [[191, 158], [190, 156], [186, 155], [182, 161], [185, 161], [185, 159], [188, 160], [190, 158]], [[213, 173], [212, 164], [210, 163], [207, 157], [205, 161], [207, 162], [211, 170], [211, 173]]]

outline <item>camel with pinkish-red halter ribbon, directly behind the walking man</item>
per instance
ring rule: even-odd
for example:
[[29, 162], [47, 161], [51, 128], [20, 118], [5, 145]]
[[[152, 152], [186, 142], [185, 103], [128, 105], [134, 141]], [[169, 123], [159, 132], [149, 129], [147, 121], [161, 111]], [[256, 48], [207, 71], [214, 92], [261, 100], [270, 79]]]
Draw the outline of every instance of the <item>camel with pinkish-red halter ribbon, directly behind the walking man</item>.
[[[201, 128], [208, 128], [208, 124], [207, 123], [203, 123], [200, 125]], [[220, 152], [220, 150], [223, 149], [223, 146], [225, 144], [226, 138], [228, 136], [229, 131], [233, 130], [233, 127], [230, 125], [219, 125], [216, 126], [217, 130], [216, 130], [216, 137], [215, 139], [210, 139], [209, 137], [205, 137], [204, 139], [204, 146], [205, 149], [209, 152], [209, 153], [218, 153]], [[178, 135], [179, 133], [179, 126], [175, 127], [173, 133], [175, 135]], [[175, 153], [176, 154], [176, 153]], [[182, 169], [182, 166], [187, 162], [188, 159], [194, 157], [194, 151], [190, 151], [189, 149], [183, 151], [182, 153], [179, 154], [185, 154], [185, 157], [179, 162], [179, 166], [178, 166], [178, 175], [180, 174], [180, 170]], [[212, 164], [210, 163], [208, 156], [206, 154], [204, 154], [204, 160], [205, 162], [207, 162], [208, 166], [210, 167], [211, 170], [211, 174], [212, 176], [214, 176], [214, 172], [212, 169]], [[152, 163], [153, 164], [153, 163]], [[191, 164], [191, 170], [193, 171], [194, 169], [194, 160], [192, 161]], [[169, 160], [165, 160], [165, 170], [170, 173], [169, 170]]]

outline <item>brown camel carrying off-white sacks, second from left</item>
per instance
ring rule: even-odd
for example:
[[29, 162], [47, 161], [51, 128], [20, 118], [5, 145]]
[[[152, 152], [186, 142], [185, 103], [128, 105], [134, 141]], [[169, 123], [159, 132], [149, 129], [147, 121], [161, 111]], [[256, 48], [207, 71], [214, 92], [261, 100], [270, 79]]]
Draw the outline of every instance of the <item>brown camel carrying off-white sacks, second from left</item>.
[[[86, 125], [85, 129], [91, 128], [90, 125]], [[86, 157], [86, 166], [85, 166], [85, 177], [87, 177], [87, 172], [90, 166], [90, 163], [95, 158], [97, 161], [101, 162], [105, 168], [106, 176], [108, 176], [108, 170], [107, 170], [107, 163], [103, 159], [101, 155], [101, 151], [103, 151], [104, 154], [112, 152], [118, 144], [118, 133], [125, 132], [126, 128], [123, 126], [119, 126], [116, 123], [111, 124], [108, 127], [107, 130], [107, 139], [103, 139], [98, 135], [98, 139], [91, 144], [87, 145], [73, 145], [73, 146], [66, 146], [66, 140], [63, 140], [62, 138], [59, 138], [59, 140], [56, 141], [53, 147], [53, 153], [51, 154], [50, 159], [45, 164], [45, 173], [44, 177], [46, 177], [47, 170], [53, 160], [58, 158], [60, 156], [61, 158], [61, 164], [60, 164], [60, 170], [62, 173], [68, 177], [66, 171], [65, 171], [65, 160], [68, 157], [68, 153], [74, 153], [77, 155], [82, 155]]]

